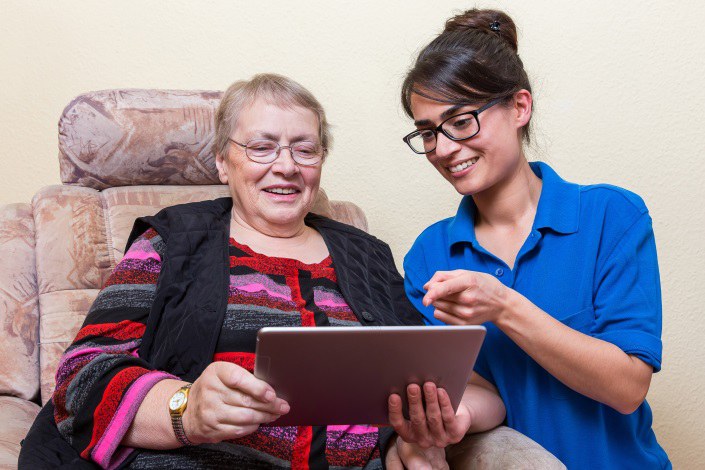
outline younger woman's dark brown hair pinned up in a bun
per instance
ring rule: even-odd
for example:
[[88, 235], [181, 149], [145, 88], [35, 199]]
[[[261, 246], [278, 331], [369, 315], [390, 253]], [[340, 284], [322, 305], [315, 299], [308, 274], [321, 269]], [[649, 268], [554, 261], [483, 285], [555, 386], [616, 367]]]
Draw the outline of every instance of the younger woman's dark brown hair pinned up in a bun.
[[[454, 16], [421, 53], [402, 86], [410, 117], [411, 95], [453, 104], [479, 104], [531, 92], [518, 51], [516, 26], [497, 10], [472, 9]], [[529, 125], [522, 129], [529, 141]]]

